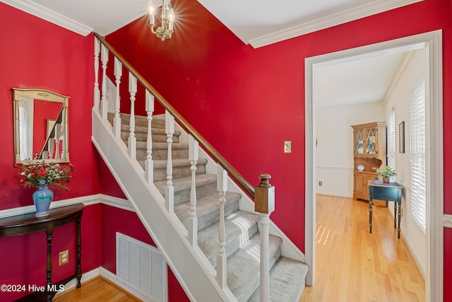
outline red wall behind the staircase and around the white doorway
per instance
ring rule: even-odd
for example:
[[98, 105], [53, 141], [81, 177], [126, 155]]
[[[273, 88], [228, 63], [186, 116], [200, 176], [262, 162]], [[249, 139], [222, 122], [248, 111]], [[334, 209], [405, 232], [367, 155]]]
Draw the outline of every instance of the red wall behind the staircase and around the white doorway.
[[[198, 1], [174, 0], [173, 6], [178, 23], [170, 40], [154, 37], [143, 17], [107, 41], [252, 185], [260, 173], [272, 175], [271, 218], [302, 250], [305, 58], [442, 29], [444, 154], [451, 153], [451, 1], [424, 0], [258, 49], [244, 45]], [[292, 153], [283, 153], [285, 140], [292, 141]], [[450, 156], [444, 158], [444, 181], [444, 209], [452, 214]], [[445, 240], [452, 240], [451, 232]], [[451, 246], [444, 254], [452, 254]], [[446, 262], [445, 280], [451, 275]], [[444, 291], [445, 301], [452, 301], [451, 286]]]

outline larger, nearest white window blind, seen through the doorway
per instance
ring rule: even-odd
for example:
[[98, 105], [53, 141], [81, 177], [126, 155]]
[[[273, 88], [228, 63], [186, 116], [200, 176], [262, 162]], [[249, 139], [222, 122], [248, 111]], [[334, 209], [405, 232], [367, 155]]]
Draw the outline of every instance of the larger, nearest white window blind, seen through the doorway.
[[425, 82], [417, 83], [411, 91], [411, 214], [422, 231], [426, 231], [426, 129]]

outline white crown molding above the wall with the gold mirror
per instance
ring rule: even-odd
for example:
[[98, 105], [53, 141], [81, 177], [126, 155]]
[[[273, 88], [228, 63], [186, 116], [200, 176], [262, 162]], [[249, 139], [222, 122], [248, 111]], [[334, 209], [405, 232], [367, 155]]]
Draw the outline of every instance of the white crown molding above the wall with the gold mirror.
[[42, 18], [45, 21], [49, 21], [50, 23], [59, 25], [62, 28], [66, 28], [67, 30], [71, 30], [74, 33], [78, 33], [79, 35], [86, 36], [93, 31], [93, 28], [90, 28], [87, 25], [63, 16], [61, 15], [61, 13], [51, 11], [48, 8], [45, 8], [44, 6], [36, 4], [35, 2], [32, 2], [30, 0], [0, 0], [0, 2], [18, 8], [20, 9], [20, 11], [25, 11], [25, 13], [30, 13], [31, 15], [37, 16], [38, 18]]

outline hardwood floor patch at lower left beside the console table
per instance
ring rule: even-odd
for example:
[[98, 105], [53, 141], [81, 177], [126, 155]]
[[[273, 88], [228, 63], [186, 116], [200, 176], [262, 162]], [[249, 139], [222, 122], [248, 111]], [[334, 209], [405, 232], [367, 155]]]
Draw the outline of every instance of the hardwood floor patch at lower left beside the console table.
[[140, 299], [110, 283], [102, 277], [83, 282], [80, 289], [69, 289], [54, 297], [53, 302], [136, 302]]

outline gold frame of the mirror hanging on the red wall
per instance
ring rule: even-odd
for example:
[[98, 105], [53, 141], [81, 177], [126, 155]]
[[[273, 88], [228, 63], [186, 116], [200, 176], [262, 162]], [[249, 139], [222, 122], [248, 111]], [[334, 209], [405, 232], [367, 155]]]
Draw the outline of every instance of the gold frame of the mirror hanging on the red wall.
[[[44, 160], [52, 161], [54, 163], [69, 163], [69, 96], [61, 95], [54, 91], [48, 91], [46, 89], [35, 89], [35, 88], [12, 88], [13, 92], [13, 115], [14, 115], [14, 163], [23, 163], [24, 165], [30, 165]], [[50, 134], [54, 133], [54, 129], [46, 129], [46, 139], [44, 146], [40, 151], [38, 158], [27, 158], [21, 159], [23, 156], [20, 154], [20, 100], [31, 99], [31, 100], [44, 100], [50, 102], [61, 103], [61, 111], [57, 117], [61, 120], [60, 127], [63, 131], [61, 132], [63, 139], [61, 140], [61, 154], [58, 158], [42, 158], [45, 153], [46, 146], [49, 145], [49, 140], [52, 139]], [[61, 116], [61, 117], [60, 117]], [[57, 118], [55, 118], [57, 120]], [[31, 123], [30, 123], [31, 124]], [[57, 123], [56, 123], [57, 124]], [[62, 125], [61, 125], [62, 124]], [[30, 127], [24, 130], [23, 133], [27, 132], [30, 134]], [[32, 129], [31, 129], [32, 132]], [[32, 137], [32, 136], [31, 136]], [[32, 142], [30, 142], [32, 144]], [[59, 146], [59, 145], [58, 145]]]

